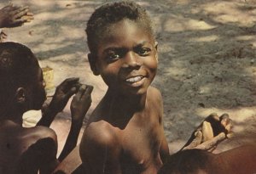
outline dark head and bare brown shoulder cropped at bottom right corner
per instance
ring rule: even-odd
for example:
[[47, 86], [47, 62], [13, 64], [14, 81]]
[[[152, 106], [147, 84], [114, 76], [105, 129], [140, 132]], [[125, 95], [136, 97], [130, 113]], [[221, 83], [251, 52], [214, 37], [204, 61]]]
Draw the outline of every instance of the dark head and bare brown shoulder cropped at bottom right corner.
[[252, 174], [256, 171], [256, 144], [211, 154], [201, 149], [180, 151], [168, 157], [159, 174]]

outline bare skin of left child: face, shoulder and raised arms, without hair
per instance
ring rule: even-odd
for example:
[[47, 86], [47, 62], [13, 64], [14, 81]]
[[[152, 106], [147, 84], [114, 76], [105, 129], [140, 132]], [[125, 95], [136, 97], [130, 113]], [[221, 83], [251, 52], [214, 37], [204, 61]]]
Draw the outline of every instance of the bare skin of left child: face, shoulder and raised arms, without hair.
[[[46, 98], [42, 70], [38, 66], [38, 80], [30, 87], [16, 87], [15, 103], [8, 113], [1, 115], [0, 124], [0, 173], [51, 173], [58, 165], [56, 159], [57, 138], [49, 124], [55, 115], [71, 103], [72, 126], [59, 160], [64, 159], [76, 146], [84, 115], [90, 107], [92, 87], [79, 85], [78, 78], [63, 81], [45, 110], [42, 120], [32, 128], [22, 127], [22, 115], [29, 109], [40, 109]], [[36, 93], [36, 95], [34, 95]], [[1, 106], [7, 107], [9, 106]], [[11, 115], [11, 116], [9, 116]]]

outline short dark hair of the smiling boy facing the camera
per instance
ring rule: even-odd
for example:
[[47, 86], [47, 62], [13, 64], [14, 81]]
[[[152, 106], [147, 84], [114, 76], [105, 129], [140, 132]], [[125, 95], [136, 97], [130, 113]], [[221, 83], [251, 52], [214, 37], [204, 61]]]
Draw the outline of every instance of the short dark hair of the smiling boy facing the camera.
[[104, 31], [114, 23], [121, 20], [132, 20], [142, 24], [148, 34], [154, 38], [152, 21], [146, 10], [137, 3], [121, 1], [116, 3], [106, 3], [100, 8], [96, 8], [87, 22], [86, 34], [87, 42], [91, 53], [96, 53], [97, 44]]

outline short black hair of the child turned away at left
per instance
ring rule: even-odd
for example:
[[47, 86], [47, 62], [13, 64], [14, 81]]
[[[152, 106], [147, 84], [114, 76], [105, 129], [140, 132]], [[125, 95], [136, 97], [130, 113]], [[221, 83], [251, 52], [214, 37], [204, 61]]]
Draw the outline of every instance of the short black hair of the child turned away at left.
[[17, 42], [0, 43], [0, 104], [15, 93], [16, 87], [29, 87], [38, 76], [38, 59], [30, 48]]

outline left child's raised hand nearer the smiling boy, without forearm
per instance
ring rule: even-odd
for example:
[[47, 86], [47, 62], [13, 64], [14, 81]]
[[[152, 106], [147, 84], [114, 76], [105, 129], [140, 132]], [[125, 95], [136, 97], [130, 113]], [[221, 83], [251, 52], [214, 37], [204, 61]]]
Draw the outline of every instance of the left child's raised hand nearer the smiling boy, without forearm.
[[73, 97], [70, 105], [72, 122], [81, 124], [83, 123], [84, 116], [91, 104], [91, 92], [93, 87], [90, 85], [82, 85], [79, 88], [79, 92]]

